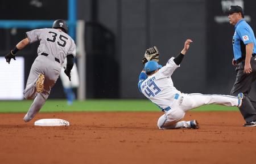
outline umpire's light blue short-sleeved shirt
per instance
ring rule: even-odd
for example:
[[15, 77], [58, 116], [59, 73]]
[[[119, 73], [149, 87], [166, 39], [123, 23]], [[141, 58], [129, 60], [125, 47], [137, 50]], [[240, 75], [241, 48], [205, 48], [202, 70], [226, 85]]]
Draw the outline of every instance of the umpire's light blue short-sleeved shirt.
[[244, 58], [246, 55], [245, 45], [252, 43], [253, 53], [256, 53], [256, 39], [250, 25], [246, 23], [245, 19], [241, 19], [235, 25], [235, 32], [233, 36], [233, 51], [234, 59]]

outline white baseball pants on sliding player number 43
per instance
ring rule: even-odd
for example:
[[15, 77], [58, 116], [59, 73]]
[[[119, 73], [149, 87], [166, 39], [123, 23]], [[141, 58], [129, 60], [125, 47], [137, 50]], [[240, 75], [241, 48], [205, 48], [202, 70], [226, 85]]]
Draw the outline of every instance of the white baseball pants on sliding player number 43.
[[160, 116], [158, 127], [160, 129], [190, 128], [188, 122], [179, 122], [184, 118], [185, 112], [208, 104], [238, 106], [238, 98], [221, 94], [181, 93], [170, 105], [171, 109]]

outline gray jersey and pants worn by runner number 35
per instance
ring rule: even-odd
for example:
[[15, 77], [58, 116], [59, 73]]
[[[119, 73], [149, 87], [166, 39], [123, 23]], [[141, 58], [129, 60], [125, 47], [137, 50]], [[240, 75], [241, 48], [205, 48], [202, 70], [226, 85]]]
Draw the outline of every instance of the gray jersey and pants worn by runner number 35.
[[[34, 102], [25, 115], [26, 118], [32, 119], [46, 102], [51, 88], [60, 76], [61, 64], [64, 63], [67, 55], [72, 54], [75, 57], [76, 45], [67, 33], [59, 29], [34, 29], [26, 32], [26, 34], [30, 44], [40, 41], [38, 57], [32, 64], [26, 88], [23, 92], [26, 99], [34, 99]], [[42, 93], [37, 93], [36, 81], [40, 74], [43, 74], [45, 77], [44, 90]]]

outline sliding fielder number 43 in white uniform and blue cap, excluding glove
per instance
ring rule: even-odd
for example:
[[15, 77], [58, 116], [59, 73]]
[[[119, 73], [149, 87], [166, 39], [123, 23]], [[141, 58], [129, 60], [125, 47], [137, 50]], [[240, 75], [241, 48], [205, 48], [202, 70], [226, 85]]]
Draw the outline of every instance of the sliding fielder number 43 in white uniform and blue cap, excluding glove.
[[197, 120], [184, 121], [185, 112], [207, 104], [237, 106], [242, 104], [243, 94], [237, 97], [220, 94], [181, 93], [174, 87], [171, 75], [189, 49], [192, 40], [185, 41], [184, 49], [176, 58], [172, 57], [166, 66], [160, 66], [156, 61], [148, 61], [139, 75], [138, 88], [149, 100], [155, 103], [164, 114], [158, 119], [160, 129], [199, 128]]

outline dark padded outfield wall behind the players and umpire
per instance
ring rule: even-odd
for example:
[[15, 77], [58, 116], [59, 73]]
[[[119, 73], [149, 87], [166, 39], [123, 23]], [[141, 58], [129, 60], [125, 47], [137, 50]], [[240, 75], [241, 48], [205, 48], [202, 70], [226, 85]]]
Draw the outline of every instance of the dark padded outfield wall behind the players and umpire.
[[[1, 19], [11, 19], [5, 18], [7, 12], [3, 8], [8, 2], [12, 1], [1, 5]], [[77, 0], [77, 19], [85, 20], [87, 27], [86, 95], [88, 98], [143, 98], [137, 89], [137, 79], [145, 49], [158, 46], [160, 63], [164, 64], [171, 55], [180, 52], [186, 38], [194, 42], [173, 75], [177, 89], [185, 93], [229, 94], [235, 74], [230, 64], [234, 29], [226, 22], [223, 11], [236, 4], [245, 8], [245, 15], [255, 29], [256, 2], [249, 0]], [[61, 10], [56, 11], [61, 11], [62, 16], [53, 17], [52, 12], [44, 12], [47, 8], [42, 10], [30, 5], [28, 16], [33, 16], [33, 11], [38, 19], [42, 18], [40, 14], [46, 19], [67, 19], [64, 12], [67, 6], [59, 8]], [[1, 56], [13, 48], [27, 30], [1, 29], [1, 36], [6, 38], [1, 40]], [[20, 53], [25, 58], [25, 79], [36, 57], [36, 46], [32, 44]], [[50, 98], [64, 98], [60, 80]]]

